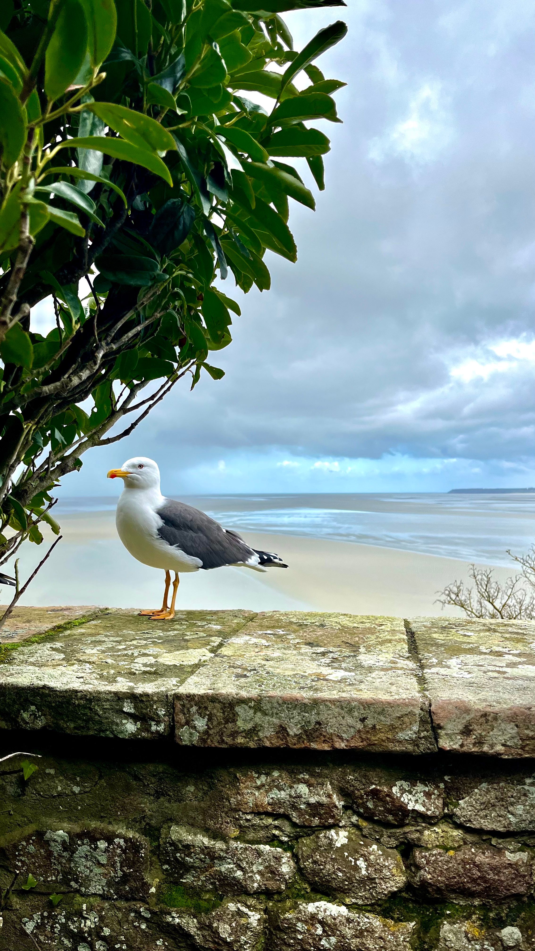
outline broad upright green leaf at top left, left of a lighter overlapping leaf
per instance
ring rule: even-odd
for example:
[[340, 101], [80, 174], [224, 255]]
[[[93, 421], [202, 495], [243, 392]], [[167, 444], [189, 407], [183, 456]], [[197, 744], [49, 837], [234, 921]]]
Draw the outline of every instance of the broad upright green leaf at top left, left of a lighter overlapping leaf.
[[64, 0], [45, 56], [45, 92], [58, 99], [76, 78], [88, 49], [88, 24], [79, 0]]

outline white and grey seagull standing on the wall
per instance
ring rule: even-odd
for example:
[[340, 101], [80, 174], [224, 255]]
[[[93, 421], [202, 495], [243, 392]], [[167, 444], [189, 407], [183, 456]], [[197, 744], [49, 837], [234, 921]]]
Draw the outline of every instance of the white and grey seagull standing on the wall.
[[[180, 572], [198, 572], [201, 568], [238, 565], [256, 572], [265, 566], [287, 568], [278, 554], [250, 548], [236, 532], [224, 529], [209, 515], [184, 502], [166, 498], [160, 492], [160, 470], [145, 456], [129, 459], [121, 469], [110, 469], [108, 478], [122, 478], [115, 524], [125, 548], [134, 558], [166, 573], [161, 608], [140, 611], [154, 621], [170, 621]], [[172, 597], [168, 607], [170, 573], [174, 572]]]

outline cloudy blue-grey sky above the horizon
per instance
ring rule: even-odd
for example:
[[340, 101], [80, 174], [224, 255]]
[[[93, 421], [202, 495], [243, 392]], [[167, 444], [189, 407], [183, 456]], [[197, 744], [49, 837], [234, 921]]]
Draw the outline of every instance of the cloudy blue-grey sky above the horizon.
[[[226, 376], [179, 383], [65, 495], [150, 456], [177, 494], [444, 492], [535, 485], [535, 6], [348, 0], [286, 14], [347, 87], [291, 264], [240, 302]], [[254, 93], [248, 93], [255, 98]], [[33, 325], [46, 322], [47, 305]]]

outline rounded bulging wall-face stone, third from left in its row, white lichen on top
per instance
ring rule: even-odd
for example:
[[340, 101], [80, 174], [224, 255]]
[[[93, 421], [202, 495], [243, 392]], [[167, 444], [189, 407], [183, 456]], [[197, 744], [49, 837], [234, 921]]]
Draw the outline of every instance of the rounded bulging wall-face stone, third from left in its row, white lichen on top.
[[307, 836], [299, 840], [296, 854], [308, 882], [348, 904], [380, 902], [406, 885], [399, 852], [363, 838], [356, 829]]

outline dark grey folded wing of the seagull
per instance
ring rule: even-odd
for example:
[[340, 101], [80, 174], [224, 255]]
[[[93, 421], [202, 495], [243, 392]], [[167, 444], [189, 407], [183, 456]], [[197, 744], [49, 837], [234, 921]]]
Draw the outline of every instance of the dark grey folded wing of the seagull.
[[160, 537], [199, 558], [204, 569], [244, 562], [257, 565], [260, 560], [239, 534], [227, 532], [209, 515], [184, 502], [168, 498], [157, 514], [163, 523], [158, 529]]

